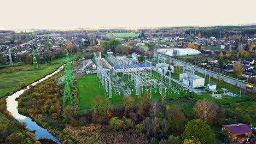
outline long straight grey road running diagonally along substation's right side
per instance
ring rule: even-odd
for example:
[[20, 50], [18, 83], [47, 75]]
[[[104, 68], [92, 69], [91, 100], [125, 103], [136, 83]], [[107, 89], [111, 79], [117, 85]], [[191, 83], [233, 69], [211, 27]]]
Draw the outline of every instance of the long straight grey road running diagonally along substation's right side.
[[[161, 58], [164, 58], [165, 60], [167, 60], [167, 57], [165, 57], [165, 56], [161, 56]], [[196, 70], [196, 71], [198, 71], [199, 73], [202, 73], [202, 74], [205, 74], [205, 71], [206, 71], [206, 75], [209, 75], [210, 70], [205, 70], [205, 69], [199, 68], [195, 65], [185, 63], [185, 62], [182, 62], [182, 61], [178, 61], [177, 59], [174, 59], [174, 58], [171, 58], [171, 57], [168, 57], [168, 59], [169, 59], [170, 62], [173, 62], [175, 64], [179, 64], [183, 67], [185, 65], [185, 67], [190, 68], [190, 69], [194, 69], [194, 70]], [[214, 71], [210, 71], [210, 76], [214, 77], [216, 79], [218, 78], [218, 74], [215, 73]], [[240, 80], [231, 79], [231, 78], [223, 76], [223, 75], [220, 75], [220, 79], [222, 79], [222, 81], [230, 83], [231, 85], [234, 85], [234, 86], [237, 86], [237, 87], [242, 86], [242, 88], [246, 88], [246, 84], [242, 83]], [[253, 84], [250, 84], [250, 85], [253, 85]], [[254, 87], [253, 91], [256, 92], [255, 87]]]

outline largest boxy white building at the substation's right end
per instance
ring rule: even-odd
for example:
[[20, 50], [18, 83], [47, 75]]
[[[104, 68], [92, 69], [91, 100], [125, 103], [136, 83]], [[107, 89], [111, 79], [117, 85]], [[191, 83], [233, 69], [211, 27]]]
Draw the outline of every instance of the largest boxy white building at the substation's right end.
[[191, 73], [179, 74], [179, 81], [192, 88], [203, 87], [205, 85], [205, 79]]

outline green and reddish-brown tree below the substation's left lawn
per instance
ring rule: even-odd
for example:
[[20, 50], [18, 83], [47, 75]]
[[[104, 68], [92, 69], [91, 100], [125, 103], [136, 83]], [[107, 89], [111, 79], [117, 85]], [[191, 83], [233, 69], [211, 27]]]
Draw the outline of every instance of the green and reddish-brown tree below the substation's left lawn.
[[110, 112], [112, 109], [113, 105], [109, 99], [97, 96], [92, 101], [92, 121], [100, 123], [107, 121], [109, 116], [112, 115], [112, 112]]

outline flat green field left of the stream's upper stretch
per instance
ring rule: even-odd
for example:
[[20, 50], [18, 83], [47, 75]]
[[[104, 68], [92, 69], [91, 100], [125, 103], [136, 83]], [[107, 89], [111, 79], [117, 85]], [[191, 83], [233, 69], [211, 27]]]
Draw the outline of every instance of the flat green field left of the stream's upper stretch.
[[[42, 75], [48, 74], [57, 67], [60, 63], [39, 64], [39, 69], [32, 70], [31, 65], [2, 69], [0, 70], [0, 97], [3, 97], [14, 88], [19, 87], [20, 83], [28, 83], [38, 79]], [[14, 69], [13, 71], [7, 71]]]

